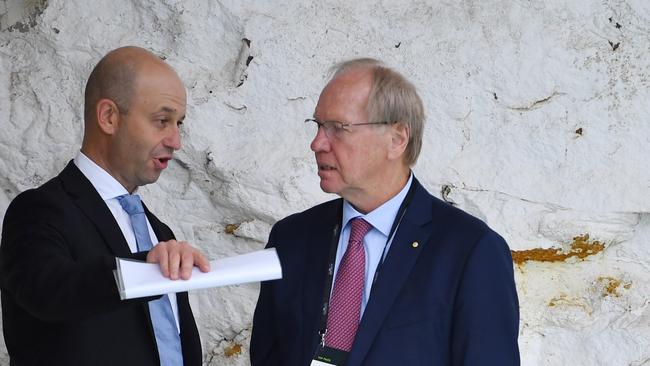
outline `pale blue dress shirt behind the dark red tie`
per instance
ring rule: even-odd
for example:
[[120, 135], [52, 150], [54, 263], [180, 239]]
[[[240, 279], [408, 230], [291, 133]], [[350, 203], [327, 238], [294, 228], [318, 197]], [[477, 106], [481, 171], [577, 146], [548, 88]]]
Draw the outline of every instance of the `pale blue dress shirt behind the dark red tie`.
[[[406, 194], [408, 193], [412, 182], [413, 174], [410, 174], [406, 185], [404, 185], [404, 188], [402, 188], [398, 194], [366, 215], [357, 211], [348, 201], [343, 201], [343, 218], [341, 221], [341, 227], [343, 230], [339, 236], [339, 245], [336, 249], [334, 273], [338, 273], [339, 264], [341, 263], [343, 254], [345, 254], [345, 250], [348, 247], [348, 240], [350, 238], [350, 230], [352, 226], [350, 220], [356, 217], [362, 217], [372, 225], [370, 231], [368, 231], [366, 236], [363, 238], [363, 247], [366, 252], [366, 271], [363, 297], [361, 298], [361, 314], [366, 310], [377, 266], [379, 265], [379, 262], [383, 260], [382, 255], [388, 253], [390, 245], [393, 242], [393, 238], [390, 238], [390, 241], [388, 241], [388, 234], [390, 234], [393, 222], [397, 219], [397, 211], [402, 205], [404, 198], [406, 198]], [[395, 232], [397, 232], [397, 230], [395, 230]], [[385, 249], [384, 246], [386, 247]], [[336, 278], [334, 281], [336, 281]], [[332, 282], [332, 289], [334, 288], [334, 283], [335, 282]]]

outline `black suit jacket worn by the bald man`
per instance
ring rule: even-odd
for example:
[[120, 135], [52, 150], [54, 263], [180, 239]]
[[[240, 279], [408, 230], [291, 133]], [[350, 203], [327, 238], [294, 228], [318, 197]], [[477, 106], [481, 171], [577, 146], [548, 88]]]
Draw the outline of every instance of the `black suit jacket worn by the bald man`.
[[[146, 210], [146, 208], [145, 208]], [[148, 210], [159, 240], [173, 233]], [[115, 257], [128, 244], [90, 181], [70, 162], [7, 209], [0, 246], [2, 322], [11, 365], [158, 365], [147, 301], [121, 301]], [[187, 293], [177, 295], [185, 365], [201, 365]]]

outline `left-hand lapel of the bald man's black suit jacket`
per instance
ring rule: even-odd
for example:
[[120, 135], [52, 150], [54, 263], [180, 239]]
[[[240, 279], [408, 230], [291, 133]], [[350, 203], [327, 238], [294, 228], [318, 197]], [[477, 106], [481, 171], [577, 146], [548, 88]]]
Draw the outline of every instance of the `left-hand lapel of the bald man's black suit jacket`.
[[75, 204], [95, 224], [97, 231], [104, 238], [104, 242], [111, 252], [117, 257], [130, 256], [129, 245], [126, 243], [113, 214], [111, 214], [104, 200], [74, 162], [70, 161], [68, 163], [59, 178]]

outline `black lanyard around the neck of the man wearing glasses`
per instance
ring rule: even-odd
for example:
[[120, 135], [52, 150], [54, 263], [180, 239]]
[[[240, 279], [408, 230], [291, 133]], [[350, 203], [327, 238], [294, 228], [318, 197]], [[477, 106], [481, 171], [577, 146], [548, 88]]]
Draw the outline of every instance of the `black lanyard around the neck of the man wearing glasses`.
[[[384, 264], [384, 258], [386, 257], [386, 248], [388, 248], [388, 243], [390, 243], [391, 239], [395, 235], [395, 231], [397, 230], [397, 227], [402, 222], [402, 219], [404, 218], [404, 214], [406, 213], [406, 208], [411, 202], [414, 192], [415, 192], [415, 182], [411, 182], [411, 187], [409, 187], [408, 193], [406, 194], [406, 197], [404, 197], [404, 201], [402, 201], [399, 210], [397, 210], [395, 221], [393, 221], [393, 226], [391, 227], [390, 232], [388, 233], [388, 239], [384, 244], [384, 250], [382, 251], [381, 259], [379, 260], [379, 264], [377, 264], [377, 269], [375, 270], [375, 275], [372, 279], [372, 285], [370, 287], [371, 295], [373, 289], [375, 288], [375, 283], [377, 283], [377, 278], [379, 277], [379, 272], [381, 271], [381, 267]], [[341, 205], [341, 216], [342, 215], [343, 215], [343, 205]], [[340, 221], [341, 220], [339, 219], [339, 222]], [[338, 249], [340, 235], [341, 235], [341, 225], [337, 223], [336, 226], [334, 226], [334, 230], [332, 231], [332, 244], [330, 244], [330, 254], [327, 263], [327, 279], [325, 282], [325, 289], [323, 292], [323, 306], [321, 307], [321, 320], [320, 320], [320, 327], [318, 330], [318, 334], [321, 337], [321, 347], [325, 346], [325, 334], [327, 333], [327, 315], [329, 314], [330, 294], [332, 292], [332, 284], [334, 282], [334, 265], [336, 263], [336, 250]]]

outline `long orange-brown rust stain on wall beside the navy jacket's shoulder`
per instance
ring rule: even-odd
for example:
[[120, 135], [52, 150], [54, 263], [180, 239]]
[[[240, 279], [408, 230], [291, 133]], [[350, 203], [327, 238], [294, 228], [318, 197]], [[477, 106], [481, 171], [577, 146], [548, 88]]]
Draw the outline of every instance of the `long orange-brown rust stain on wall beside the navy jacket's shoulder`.
[[512, 261], [522, 265], [528, 261], [537, 262], [563, 262], [571, 257], [584, 259], [588, 256], [600, 253], [605, 245], [597, 240], [589, 240], [589, 234], [579, 235], [573, 238], [571, 248], [564, 251], [560, 248], [534, 248], [527, 250], [513, 250]]

